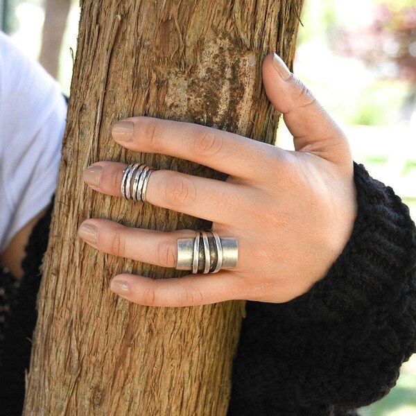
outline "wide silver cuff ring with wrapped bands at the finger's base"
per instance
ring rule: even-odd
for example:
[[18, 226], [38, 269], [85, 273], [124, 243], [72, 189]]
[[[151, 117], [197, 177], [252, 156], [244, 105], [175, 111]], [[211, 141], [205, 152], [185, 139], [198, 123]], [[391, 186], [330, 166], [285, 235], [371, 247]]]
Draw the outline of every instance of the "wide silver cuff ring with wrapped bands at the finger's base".
[[238, 257], [237, 240], [220, 238], [211, 229], [197, 231], [194, 239], [177, 239], [177, 270], [216, 273], [220, 269], [235, 268]]

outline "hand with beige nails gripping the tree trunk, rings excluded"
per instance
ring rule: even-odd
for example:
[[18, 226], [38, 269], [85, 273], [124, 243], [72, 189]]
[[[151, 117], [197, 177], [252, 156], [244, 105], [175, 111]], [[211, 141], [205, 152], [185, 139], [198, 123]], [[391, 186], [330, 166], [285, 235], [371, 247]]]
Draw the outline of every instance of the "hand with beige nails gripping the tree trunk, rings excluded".
[[[236, 268], [177, 279], [122, 274], [112, 291], [152, 306], [191, 306], [232, 299], [287, 302], [322, 279], [342, 252], [356, 217], [347, 139], [312, 94], [275, 54], [263, 62], [270, 101], [293, 134], [295, 151], [190, 123], [132, 117], [114, 125], [121, 146], [188, 159], [227, 173], [225, 182], [155, 171], [146, 199], [153, 205], [212, 221], [239, 244]], [[97, 162], [85, 170], [96, 191], [121, 196], [124, 164]], [[80, 236], [94, 248], [174, 268], [177, 239], [193, 230], [132, 229], [85, 220]], [[114, 241], [117, 243], [114, 244]]]

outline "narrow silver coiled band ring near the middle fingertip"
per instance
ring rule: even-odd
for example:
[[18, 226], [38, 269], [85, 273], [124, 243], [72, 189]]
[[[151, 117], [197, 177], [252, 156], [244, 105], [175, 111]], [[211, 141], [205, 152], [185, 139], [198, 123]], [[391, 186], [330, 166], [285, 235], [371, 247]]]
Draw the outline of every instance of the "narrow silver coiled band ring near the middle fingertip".
[[155, 168], [146, 164], [130, 164], [123, 171], [121, 195], [126, 200], [146, 202], [146, 189], [149, 177]]

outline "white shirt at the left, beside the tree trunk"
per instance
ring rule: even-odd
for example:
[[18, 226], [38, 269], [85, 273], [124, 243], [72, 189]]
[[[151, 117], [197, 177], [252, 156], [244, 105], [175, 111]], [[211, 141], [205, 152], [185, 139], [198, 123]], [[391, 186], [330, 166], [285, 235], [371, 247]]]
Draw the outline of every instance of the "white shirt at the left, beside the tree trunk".
[[51, 202], [66, 115], [58, 83], [0, 32], [0, 254]]

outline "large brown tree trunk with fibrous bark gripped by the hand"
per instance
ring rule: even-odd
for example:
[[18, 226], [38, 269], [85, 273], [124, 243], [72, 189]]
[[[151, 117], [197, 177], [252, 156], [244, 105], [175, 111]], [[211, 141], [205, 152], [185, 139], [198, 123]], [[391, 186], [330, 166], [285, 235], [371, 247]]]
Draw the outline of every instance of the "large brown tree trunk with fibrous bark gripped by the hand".
[[[146, 114], [193, 121], [272, 143], [277, 114], [261, 87], [261, 60], [291, 62], [302, 0], [82, 1], [24, 415], [225, 415], [244, 303], [150, 308], [112, 294], [122, 271], [171, 269], [101, 254], [76, 236], [90, 217], [173, 230], [197, 218], [103, 196], [85, 187], [98, 160], [223, 178], [164, 155], [121, 150], [112, 124]], [[207, 277], [208, 278], [208, 277]]]

